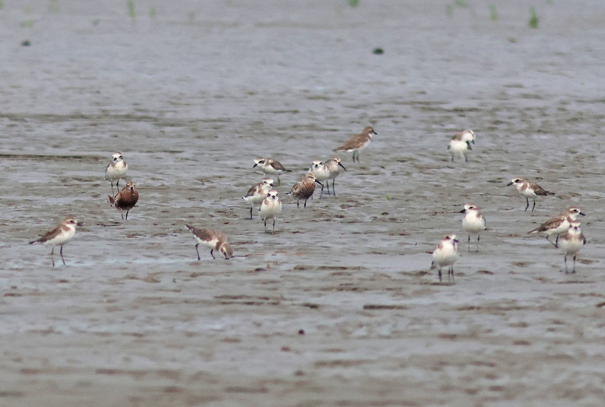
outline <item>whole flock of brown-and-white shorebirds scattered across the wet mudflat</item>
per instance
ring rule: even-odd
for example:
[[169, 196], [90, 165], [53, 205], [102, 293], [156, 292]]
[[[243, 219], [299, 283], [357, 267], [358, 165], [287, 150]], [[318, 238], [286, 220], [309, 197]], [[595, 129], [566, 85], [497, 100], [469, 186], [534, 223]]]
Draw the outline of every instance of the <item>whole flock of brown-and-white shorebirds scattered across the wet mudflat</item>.
[[[372, 135], [378, 134], [371, 127], [366, 127], [360, 134], [350, 138], [346, 143], [338, 148], [335, 148], [335, 152], [353, 152], [353, 163], [359, 162], [359, 151], [370, 144]], [[471, 151], [471, 143], [475, 143], [476, 134], [470, 130], [458, 132], [451, 139], [448, 144], [448, 151], [451, 154], [451, 160], [454, 158], [465, 158], [468, 162], [468, 154]], [[250, 204], [250, 219], [253, 218], [253, 209], [255, 206], [260, 205], [259, 214], [261, 220], [264, 222], [264, 231], [267, 232], [267, 221], [273, 220], [272, 232], [275, 233], [275, 220], [281, 215], [282, 205], [281, 200], [278, 197], [278, 191], [273, 189], [275, 181], [271, 176], [277, 178], [278, 185], [281, 184], [280, 175], [287, 172], [292, 172], [286, 168], [277, 160], [272, 158], [256, 158], [254, 160], [253, 168], [258, 168], [264, 173], [264, 178], [259, 183], [254, 184], [248, 190], [247, 194], [244, 195], [243, 199]], [[347, 171], [342, 165], [339, 157], [333, 157], [329, 160], [312, 161], [312, 166], [309, 168], [307, 174], [302, 176], [302, 179], [296, 182], [288, 195], [296, 198], [296, 206], [300, 206], [300, 201], [304, 200], [303, 206], [307, 207], [307, 200], [313, 197], [315, 193], [315, 184], [321, 185], [321, 198], [324, 193], [325, 181], [327, 186], [327, 194], [330, 195], [330, 184], [332, 180], [332, 194], [336, 195], [335, 192], [335, 180], [341, 170]], [[121, 153], [117, 152], [113, 154], [112, 161], [107, 165], [105, 169], [105, 180], [111, 183], [112, 195], [109, 196], [110, 203], [113, 204], [120, 213], [122, 214], [123, 220], [128, 220], [128, 211], [132, 209], [139, 200], [139, 192], [132, 181], [128, 181], [126, 186], [121, 190], [119, 189], [119, 182], [126, 176], [128, 170], [128, 164], [124, 161]], [[114, 193], [114, 183], [119, 192]], [[513, 178], [511, 183], [514, 185], [517, 193], [522, 197], [526, 198], [525, 210], [529, 209], [529, 199], [534, 201], [532, 211], [535, 209], [535, 197], [537, 196], [548, 196], [554, 195], [553, 192], [549, 192], [536, 183], [532, 183], [524, 180], [523, 178]], [[123, 215], [122, 211], [126, 210], [126, 216]], [[462, 229], [468, 233], [468, 250], [471, 250], [471, 233], [477, 234], [477, 252], [479, 252], [479, 241], [480, 233], [486, 229], [486, 221], [483, 215], [480, 213], [479, 207], [474, 204], [465, 204], [464, 209], [460, 211], [465, 213], [462, 220]], [[555, 247], [563, 250], [565, 272], [568, 273], [567, 268], [567, 256], [572, 255], [574, 257], [574, 267], [572, 273], [575, 273], [575, 261], [576, 255], [580, 251], [581, 247], [586, 244], [586, 238], [580, 229], [580, 222], [577, 220], [578, 215], [584, 215], [578, 207], [572, 206], [567, 208], [563, 213], [557, 215], [554, 218], [549, 219], [545, 223], [541, 224], [537, 228], [530, 230], [528, 233], [540, 233], [546, 236], [546, 239]], [[65, 259], [63, 258], [63, 246], [67, 244], [76, 233], [76, 226], [82, 226], [82, 223], [75, 217], [67, 217], [54, 229], [49, 230], [41, 238], [31, 241], [33, 243], [42, 243], [48, 246], [52, 246], [51, 249], [51, 261], [54, 267], [54, 247], [60, 246], [60, 256], [63, 264]], [[193, 233], [195, 241], [195, 252], [197, 253], [197, 259], [200, 260], [200, 252], [198, 246], [202, 244], [210, 249], [212, 258], [214, 257], [214, 250], [218, 250], [224, 258], [229, 259], [233, 257], [233, 250], [227, 241], [227, 237], [218, 230], [203, 229], [191, 226], [189, 224], [186, 227]], [[550, 238], [555, 237], [555, 241]], [[459, 239], [454, 234], [448, 234], [443, 237], [433, 252], [433, 261], [431, 262], [431, 270], [438, 269], [439, 281], [442, 281], [441, 270], [443, 267], [448, 267], [448, 281], [454, 279], [454, 262], [459, 258]]]

